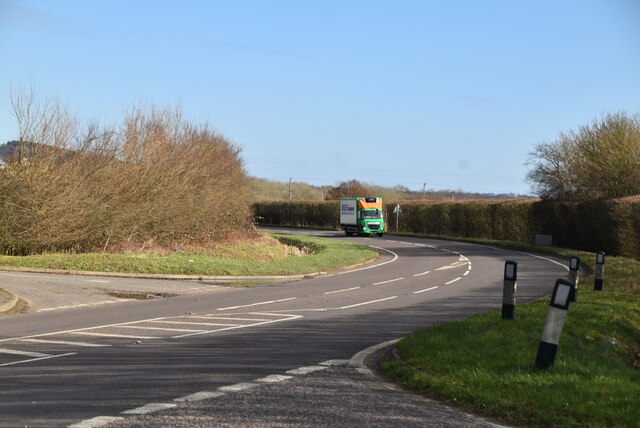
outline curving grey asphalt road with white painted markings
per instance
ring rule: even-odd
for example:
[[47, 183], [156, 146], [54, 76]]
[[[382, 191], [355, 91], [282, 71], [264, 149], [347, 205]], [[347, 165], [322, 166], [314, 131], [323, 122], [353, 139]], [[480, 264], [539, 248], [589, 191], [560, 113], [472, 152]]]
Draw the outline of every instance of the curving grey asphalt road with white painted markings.
[[[0, 426], [491, 425], [347, 360], [499, 309], [507, 259], [518, 262], [519, 302], [548, 295], [567, 272], [564, 262], [468, 243], [294, 232], [384, 256], [256, 288], [0, 272], [0, 287], [28, 294], [35, 309], [0, 318]], [[114, 289], [182, 296], [136, 301]]]

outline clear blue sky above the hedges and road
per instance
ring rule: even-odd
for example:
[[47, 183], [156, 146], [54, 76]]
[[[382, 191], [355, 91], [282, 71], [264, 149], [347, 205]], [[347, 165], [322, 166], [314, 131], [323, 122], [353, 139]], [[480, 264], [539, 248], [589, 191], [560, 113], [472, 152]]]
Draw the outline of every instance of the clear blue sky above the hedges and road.
[[528, 153], [640, 112], [640, 0], [0, 0], [9, 92], [182, 106], [250, 175], [528, 193]]

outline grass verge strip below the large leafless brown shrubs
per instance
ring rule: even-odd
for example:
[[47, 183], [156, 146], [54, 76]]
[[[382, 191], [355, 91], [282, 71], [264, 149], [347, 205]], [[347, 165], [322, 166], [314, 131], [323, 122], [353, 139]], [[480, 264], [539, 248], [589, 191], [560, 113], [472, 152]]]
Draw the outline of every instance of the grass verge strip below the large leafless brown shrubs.
[[328, 272], [372, 260], [374, 249], [353, 242], [272, 234], [312, 254], [277, 260], [242, 260], [224, 254], [175, 252], [158, 254], [42, 254], [0, 256], [0, 266], [62, 270], [176, 275], [264, 276]]

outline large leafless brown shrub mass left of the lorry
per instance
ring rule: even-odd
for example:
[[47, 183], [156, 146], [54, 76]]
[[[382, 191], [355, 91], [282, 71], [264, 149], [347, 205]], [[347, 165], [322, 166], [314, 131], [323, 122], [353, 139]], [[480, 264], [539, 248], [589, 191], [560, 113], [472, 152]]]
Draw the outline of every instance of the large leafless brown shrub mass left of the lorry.
[[13, 97], [20, 138], [0, 171], [5, 253], [204, 245], [249, 231], [240, 149], [179, 109], [84, 127], [59, 104]]

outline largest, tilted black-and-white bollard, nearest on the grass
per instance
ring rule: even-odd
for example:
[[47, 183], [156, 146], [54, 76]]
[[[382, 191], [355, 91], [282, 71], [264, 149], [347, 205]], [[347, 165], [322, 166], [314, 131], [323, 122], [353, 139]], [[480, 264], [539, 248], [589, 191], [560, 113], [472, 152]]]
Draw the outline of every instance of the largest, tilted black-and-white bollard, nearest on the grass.
[[546, 369], [553, 365], [558, 350], [558, 342], [562, 334], [564, 320], [567, 318], [569, 309], [569, 297], [573, 292], [573, 284], [566, 279], [558, 279], [553, 288], [551, 303], [547, 319], [544, 322], [542, 337], [538, 345], [538, 355], [536, 356], [536, 368]]

